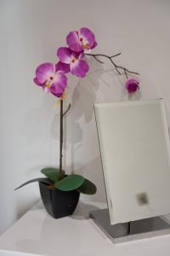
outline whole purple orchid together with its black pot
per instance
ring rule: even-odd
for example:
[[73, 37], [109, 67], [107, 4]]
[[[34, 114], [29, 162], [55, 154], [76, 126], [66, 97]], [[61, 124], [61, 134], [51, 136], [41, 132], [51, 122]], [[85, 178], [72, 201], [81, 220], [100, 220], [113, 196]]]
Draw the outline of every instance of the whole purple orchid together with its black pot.
[[127, 79], [125, 86], [128, 93], [133, 93], [139, 89], [139, 81], [134, 78], [128, 78], [129, 74], [138, 73], [116, 65], [116, 62], [113, 61], [121, 53], [111, 56], [90, 53], [90, 50], [94, 49], [97, 43], [94, 33], [87, 27], [82, 27], [79, 31], [70, 32], [66, 37], [66, 44], [67, 47], [59, 47], [57, 49], [59, 61], [55, 65], [50, 62], [39, 65], [34, 79], [35, 84], [41, 87], [44, 92], [50, 92], [59, 98], [59, 168], [43, 168], [41, 172], [45, 177], [37, 177], [16, 188], [20, 189], [28, 183], [38, 182], [44, 207], [54, 218], [71, 215], [77, 207], [80, 193], [94, 195], [97, 190], [95, 184], [82, 177], [82, 175], [75, 173], [68, 175], [63, 170], [63, 119], [71, 108], [71, 105], [69, 105], [69, 108], [64, 111], [63, 107], [67, 88], [66, 73], [84, 78], [89, 70], [88, 62], [85, 59], [86, 55], [94, 57], [96, 61], [102, 64], [104, 62], [101, 61], [101, 58], [107, 58], [116, 68], [116, 72], [119, 75], [125, 75]]

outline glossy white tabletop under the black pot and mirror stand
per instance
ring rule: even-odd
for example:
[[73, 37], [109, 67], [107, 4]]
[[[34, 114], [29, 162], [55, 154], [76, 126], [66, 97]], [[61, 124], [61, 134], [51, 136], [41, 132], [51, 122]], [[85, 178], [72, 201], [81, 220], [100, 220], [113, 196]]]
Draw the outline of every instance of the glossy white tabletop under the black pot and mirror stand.
[[88, 218], [104, 204], [79, 202], [71, 217], [54, 219], [39, 203], [0, 236], [0, 250], [48, 256], [170, 255], [170, 235], [113, 244]]

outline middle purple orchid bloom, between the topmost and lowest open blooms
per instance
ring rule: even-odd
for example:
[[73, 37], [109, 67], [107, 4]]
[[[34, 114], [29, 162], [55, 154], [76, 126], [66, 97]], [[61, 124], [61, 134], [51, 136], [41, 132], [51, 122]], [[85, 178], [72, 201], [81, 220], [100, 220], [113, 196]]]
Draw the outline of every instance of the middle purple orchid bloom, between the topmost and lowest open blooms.
[[57, 50], [57, 56], [59, 62], [56, 67], [65, 73], [71, 71], [71, 74], [81, 78], [84, 78], [88, 73], [89, 67], [88, 63], [83, 60], [83, 53], [76, 53], [71, 51], [70, 48], [60, 47]]

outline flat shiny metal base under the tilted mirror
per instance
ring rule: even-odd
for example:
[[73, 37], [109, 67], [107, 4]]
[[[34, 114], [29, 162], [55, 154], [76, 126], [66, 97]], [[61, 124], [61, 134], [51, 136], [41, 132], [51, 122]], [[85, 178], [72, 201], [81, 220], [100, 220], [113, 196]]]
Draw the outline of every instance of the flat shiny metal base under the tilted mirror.
[[170, 234], [170, 218], [164, 216], [111, 225], [109, 211], [103, 209], [90, 212], [90, 218], [114, 243]]

